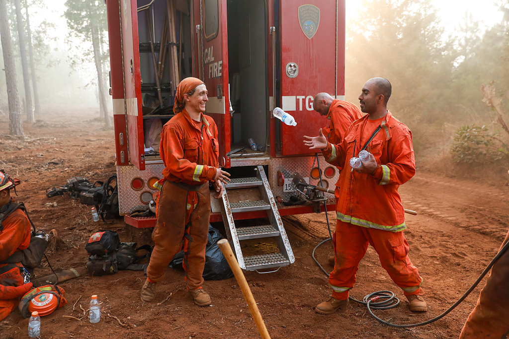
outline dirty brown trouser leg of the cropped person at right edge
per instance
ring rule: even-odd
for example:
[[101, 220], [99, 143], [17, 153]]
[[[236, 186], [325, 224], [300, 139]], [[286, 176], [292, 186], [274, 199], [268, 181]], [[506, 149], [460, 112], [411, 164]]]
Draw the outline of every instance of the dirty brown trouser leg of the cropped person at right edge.
[[[509, 241], [509, 232], [500, 246]], [[460, 339], [500, 339], [509, 335], [509, 250], [491, 268], [486, 286], [463, 326]]]

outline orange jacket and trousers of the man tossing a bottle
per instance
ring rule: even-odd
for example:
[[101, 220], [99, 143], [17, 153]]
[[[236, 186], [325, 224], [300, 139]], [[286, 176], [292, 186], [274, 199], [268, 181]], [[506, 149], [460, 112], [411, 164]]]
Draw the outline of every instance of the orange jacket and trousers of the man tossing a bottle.
[[[329, 276], [332, 296], [348, 298], [368, 243], [405, 295], [421, 295], [422, 278], [408, 258], [409, 246], [402, 232], [406, 229], [405, 212], [398, 194], [400, 184], [415, 174], [412, 134], [390, 112], [375, 124], [369, 124], [368, 119], [369, 115], [365, 115], [355, 121], [340, 144], [329, 143], [323, 150], [327, 162], [344, 168], [340, 174], [333, 236], [335, 265]], [[350, 158], [358, 156], [377, 123], [381, 130], [366, 150], [373, 154], [379, 166], [373, 174], [357, 173], [350, 166]]]

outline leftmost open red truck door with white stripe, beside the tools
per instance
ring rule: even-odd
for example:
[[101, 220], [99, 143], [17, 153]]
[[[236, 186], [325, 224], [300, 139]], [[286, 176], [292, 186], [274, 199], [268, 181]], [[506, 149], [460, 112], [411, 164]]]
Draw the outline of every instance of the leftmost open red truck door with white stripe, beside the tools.
[[[124, 62], [125, 114], [129, 162], [145, 170], [142, 88], [139, 68], [138, 16], [136, 1], [121, 0], [122, 54]], [[144, 12], [142, 14], [145, 15]]]

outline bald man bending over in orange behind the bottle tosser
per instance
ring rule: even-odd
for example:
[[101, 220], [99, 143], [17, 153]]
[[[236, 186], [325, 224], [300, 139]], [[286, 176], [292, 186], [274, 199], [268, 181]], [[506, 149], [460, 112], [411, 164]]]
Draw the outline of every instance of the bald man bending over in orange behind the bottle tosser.
[[[362, 112], [352, 104], [351, 102], [333, 99], [327, 93], [319, 93], [315, 96], [313, 101], [313, 109], [320, 115], [326, 116], [330, 120], [329, 127], [323, 129], [324, 135], [331, 144], [337, 145], [343, 141], [348, 128], [357, 119], [360, 119], [363, 114]], [[337, 170], [340, 171], [343, 166], [337, 166]], [[337, 178], [336, 189], [334, 191], [336, 203], [340, 197], [340, 179]], [[329, 258], [329, 263], [334, 265], [335, 256]]]

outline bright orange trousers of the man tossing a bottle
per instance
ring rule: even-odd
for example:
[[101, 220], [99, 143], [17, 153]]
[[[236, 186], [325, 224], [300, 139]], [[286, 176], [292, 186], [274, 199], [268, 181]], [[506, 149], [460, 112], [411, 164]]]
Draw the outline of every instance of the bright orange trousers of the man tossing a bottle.
[[405, 295], [422, 295], [422, 278], [408, 258], [408, 242], [403, 232], [366, 228], [337, 221], [333, 235], [335, 265], [330, 273], [332, 296], [346, 300], [348, 290], [355, 284], [359, 262], [371, 244], [378, 253], [382, 267]]

